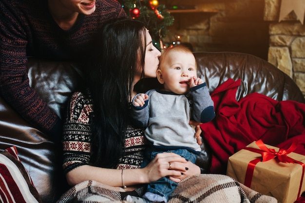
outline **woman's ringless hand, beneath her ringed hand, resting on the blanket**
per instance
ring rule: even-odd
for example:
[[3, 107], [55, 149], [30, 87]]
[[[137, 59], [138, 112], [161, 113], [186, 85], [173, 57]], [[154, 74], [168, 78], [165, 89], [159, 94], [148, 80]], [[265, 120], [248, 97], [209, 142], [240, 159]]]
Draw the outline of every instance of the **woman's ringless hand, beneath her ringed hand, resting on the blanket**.
[[176, 170], [180, 172], [179, 175], [173, 175], [169, 177], [170, 180], [176, 183], [179, 183], [183, 179], [188, 178], [192, 175], [197, 175], [201, 173], [200, 167], [191, 163], [190, 161], [187, 163], [173, 162], [171, 163], [171, 165], [172, 165], [172, 170]]

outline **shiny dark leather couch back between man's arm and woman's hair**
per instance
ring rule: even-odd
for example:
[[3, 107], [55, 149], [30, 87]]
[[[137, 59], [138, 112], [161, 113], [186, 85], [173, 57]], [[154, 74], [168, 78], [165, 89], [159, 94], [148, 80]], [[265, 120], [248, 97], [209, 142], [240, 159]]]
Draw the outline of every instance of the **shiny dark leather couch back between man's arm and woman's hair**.
[[29, 58], [27, 67], [30, 86], [62, 118], [71, 92], [81, 82], [82, 74], [76, 64]]

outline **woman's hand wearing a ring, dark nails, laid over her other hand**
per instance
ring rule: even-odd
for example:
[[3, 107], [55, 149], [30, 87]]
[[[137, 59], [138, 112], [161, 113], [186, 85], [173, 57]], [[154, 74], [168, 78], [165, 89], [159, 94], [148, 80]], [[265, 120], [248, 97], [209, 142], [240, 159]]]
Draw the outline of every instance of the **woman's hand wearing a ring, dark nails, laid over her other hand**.
[[[158, 153], [144, 168], [147, 174], [147, 180], [145, 182], [151, 183], [165, 176], [180, 177], [181, 173], [183, 173], [182, 170], [185, 171], [187, 166], [189, 166], [188, 161], [180, 155], [172, 152]], [[180, 180], [182, 179], [176, 178], [175, 182], [179, 183]]]

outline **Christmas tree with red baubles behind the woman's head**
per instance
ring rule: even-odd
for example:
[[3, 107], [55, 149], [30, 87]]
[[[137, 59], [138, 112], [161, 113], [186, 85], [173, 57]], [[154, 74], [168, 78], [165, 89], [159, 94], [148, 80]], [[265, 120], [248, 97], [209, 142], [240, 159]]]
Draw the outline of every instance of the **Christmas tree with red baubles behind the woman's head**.
[[166, 11], [165, 5], [159, 5], [158, 0], [118, 0], [126, 14], [145, 23], [150, 31], [154, 45], [164, 48], [162, 38], [166, 36], [167, 26], [173, 24], [174, 18]]

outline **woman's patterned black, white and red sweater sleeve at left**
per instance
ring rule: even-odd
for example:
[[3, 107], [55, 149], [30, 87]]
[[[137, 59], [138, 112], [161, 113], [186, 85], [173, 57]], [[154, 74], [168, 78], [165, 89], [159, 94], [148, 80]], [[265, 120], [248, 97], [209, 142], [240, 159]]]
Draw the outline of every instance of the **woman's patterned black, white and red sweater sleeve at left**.
[[70, 100], [63, 125], [63, 169], [65, 173], [88, 165], [91, 151], [92, 100], [75, 92]]

